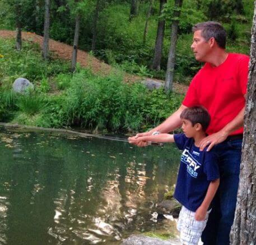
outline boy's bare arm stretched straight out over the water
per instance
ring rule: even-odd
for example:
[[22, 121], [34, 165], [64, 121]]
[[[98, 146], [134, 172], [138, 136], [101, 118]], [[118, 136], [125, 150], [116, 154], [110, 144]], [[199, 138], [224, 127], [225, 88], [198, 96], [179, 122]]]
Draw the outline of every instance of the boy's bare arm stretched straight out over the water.
[[174, 136], [173, 134], [169, 133], [160, 133], [157, 135], [150, 135], [150, 136], [141, 136], [139, 138], [136, 137], [129, 137], [128, 138], [129, 143], [136, 144], [143, 141], [143, 142], [174, 142]]

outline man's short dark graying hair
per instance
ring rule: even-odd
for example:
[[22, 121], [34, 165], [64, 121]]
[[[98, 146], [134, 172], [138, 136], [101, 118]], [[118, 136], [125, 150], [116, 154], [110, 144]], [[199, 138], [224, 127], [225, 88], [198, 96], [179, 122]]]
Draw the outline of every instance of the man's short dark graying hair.
[[225, 49], [227, 33], [220, 23], [215, 21], [197, 23], [192, 27], [192, 31], [201, 31], [201, 35], [206, 41], [214, 37], [218, 46]]

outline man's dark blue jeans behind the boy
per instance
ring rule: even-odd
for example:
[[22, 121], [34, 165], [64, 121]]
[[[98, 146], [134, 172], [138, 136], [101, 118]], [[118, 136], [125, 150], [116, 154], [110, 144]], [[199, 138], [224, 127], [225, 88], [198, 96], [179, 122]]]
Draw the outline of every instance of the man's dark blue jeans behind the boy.
[[230, 244], [229, 234], [234, 221], [241, 162], [242, 140], [226, 140], [216, 145], [220, 186], [212, 201], [212, 212], [202, 234], [206, 245]]

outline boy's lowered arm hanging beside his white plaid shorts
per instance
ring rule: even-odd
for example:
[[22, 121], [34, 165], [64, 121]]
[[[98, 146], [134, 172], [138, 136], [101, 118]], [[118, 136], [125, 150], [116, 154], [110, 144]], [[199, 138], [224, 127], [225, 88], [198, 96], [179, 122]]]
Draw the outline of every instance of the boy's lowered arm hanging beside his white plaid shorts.
[[195, 214], [196, 220], [200, 221], [205, 219], [207, 210], [218, 189], [218, 185], [220, 185], [220, 179], [211, 181], [206, 193], [206, 197], [203, 199], [201, 206], [199, 206], [199, 208], [196, 211], [196, 214]]

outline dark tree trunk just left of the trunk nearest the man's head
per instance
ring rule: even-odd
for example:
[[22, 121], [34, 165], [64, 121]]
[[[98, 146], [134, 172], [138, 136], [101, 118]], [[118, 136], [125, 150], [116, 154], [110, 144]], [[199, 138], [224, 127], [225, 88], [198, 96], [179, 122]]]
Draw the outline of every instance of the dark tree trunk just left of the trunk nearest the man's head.
[[[164, 4], [166, 0], [160, 0], [160, 11], [159, 16], [162, 14], [162, 10], [164, 9]], [[157, 34], [156, 34], [156, 43], [155, 43], [155, 52], [153, 56], [153, 62], [151, 69], [160, 70], [161, 69], [161, 57], [162, 57], [162, 44], [164, 42], [165, 35], [165, 20], [159, 20], [157, 26]]]

